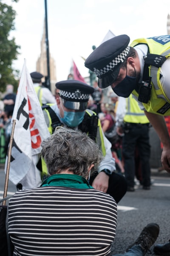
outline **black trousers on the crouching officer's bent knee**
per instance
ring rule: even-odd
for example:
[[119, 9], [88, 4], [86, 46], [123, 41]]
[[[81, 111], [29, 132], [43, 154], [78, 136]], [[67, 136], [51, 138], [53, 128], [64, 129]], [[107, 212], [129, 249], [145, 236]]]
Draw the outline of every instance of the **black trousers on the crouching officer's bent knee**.
[[[90, 185], [92, 185], [95, 177], [98, 175], [93, 175], [90, 178]], [[122, 199], [122, 197], [126, 194], [127, 191], [127, 182], [123, 175], [113, 172], [112, 175], [109, 177], [109, 186], [107, 190], [107, 194], [111, 195], [116, 203]]]

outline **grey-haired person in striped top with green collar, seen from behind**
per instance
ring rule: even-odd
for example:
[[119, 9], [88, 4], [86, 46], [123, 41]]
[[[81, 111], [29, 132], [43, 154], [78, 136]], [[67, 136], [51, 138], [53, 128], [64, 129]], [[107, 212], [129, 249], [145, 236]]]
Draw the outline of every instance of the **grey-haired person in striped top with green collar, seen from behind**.
[[42, 157], [51, 176], [38, 188], [17, 191], [9, 202], [13, 255], [109, 255], [116, 202], [87, 180], [102, 161], [99, 145], [81, 131], [57, 127], [42, 142]]

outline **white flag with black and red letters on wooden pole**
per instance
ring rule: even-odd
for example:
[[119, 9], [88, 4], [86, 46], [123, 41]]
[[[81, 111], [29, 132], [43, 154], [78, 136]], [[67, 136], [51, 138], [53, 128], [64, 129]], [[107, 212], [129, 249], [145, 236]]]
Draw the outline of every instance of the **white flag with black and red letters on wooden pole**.
[[32, 156], [41, 152], [42, 140], [50, 137], [31, 76], [26, 68], [26, 60], [17, 90], [12, 120], [16, 120], [16, 124], [9, 179], [16, 185], [29, 171]]

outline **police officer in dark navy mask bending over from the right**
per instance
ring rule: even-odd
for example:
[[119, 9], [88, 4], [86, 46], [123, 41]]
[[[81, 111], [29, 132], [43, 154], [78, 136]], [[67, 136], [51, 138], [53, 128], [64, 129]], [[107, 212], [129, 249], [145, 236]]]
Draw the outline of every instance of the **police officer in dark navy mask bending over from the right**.
[[86, 58], [99, 87], [111, 85], [122, 97], [133, 96], [164, 145], [161, 162], [170, 172], [170, 136], [164, 116], [170, 115], [170, 35], [139, 38], [119, 35], [105, 41]]

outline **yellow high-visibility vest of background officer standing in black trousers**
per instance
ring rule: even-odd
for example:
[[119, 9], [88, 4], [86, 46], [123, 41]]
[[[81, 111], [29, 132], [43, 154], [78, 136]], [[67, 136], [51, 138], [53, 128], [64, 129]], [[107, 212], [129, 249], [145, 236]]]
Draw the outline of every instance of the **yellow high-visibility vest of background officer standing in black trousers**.
[[146, 124], [149, 123], [144, 111], [139, 108], [138, 102], [133, 98], [132, 94], [126, 99], [127, 112], [124, 116], [125, 122]]

